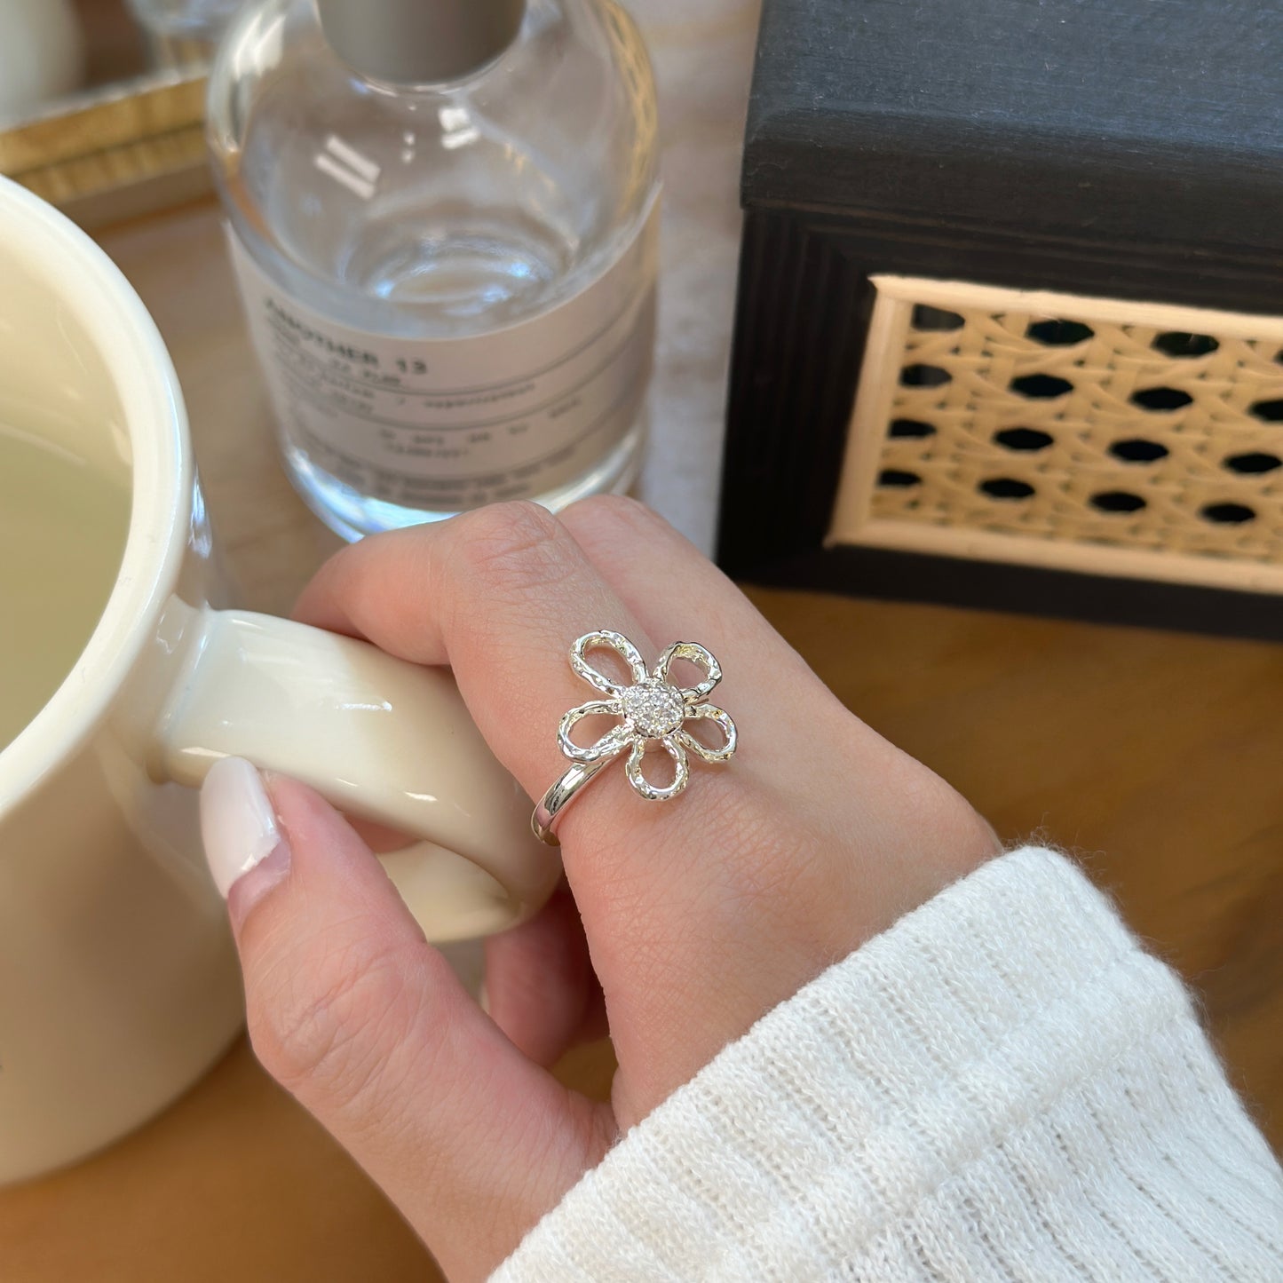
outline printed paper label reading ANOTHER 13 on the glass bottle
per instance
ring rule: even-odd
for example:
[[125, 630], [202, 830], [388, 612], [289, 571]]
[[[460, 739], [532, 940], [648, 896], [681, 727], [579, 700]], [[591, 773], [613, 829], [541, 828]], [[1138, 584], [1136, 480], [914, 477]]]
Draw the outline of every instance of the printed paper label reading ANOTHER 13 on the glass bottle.
[[457, 511], [544, 494], [636, 421], [654, 352], [658, 200], [574, 298], [490, 334], [354, 330], [269, 280], [230, 232], [282, 432], [362, 494]]

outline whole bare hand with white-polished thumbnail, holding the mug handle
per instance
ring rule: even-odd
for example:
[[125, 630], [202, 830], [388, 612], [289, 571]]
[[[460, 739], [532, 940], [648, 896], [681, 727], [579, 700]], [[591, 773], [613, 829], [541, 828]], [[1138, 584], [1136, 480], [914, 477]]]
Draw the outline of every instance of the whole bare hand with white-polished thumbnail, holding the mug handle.
[[[207, 788], [216, 869], [251, 858], [227, 811], [253, 811], [255, 789], [255, 840], [275, 844], [228, 901], [259, 1060], [454, 1280], [493, 1270], [760, 1016], [998, 851], [961, 797], [847, 712], [631, 500], [561, 520], [499, 506], [367, 539], [321, 570], [298, 615], [448, 663], [532, 798], [567, 765], [558, 718], [591, 698], [566, 663], [584, 633], [624, 633], [648, 663], [674, 640], [706, 644], [726, 675], [712, 698], [739, 727], [731, 762], [693, 763], [674, 802], [639, 799], [613, 763], [566, 811], [568, 892], [488, 942], [489, 1015], [319, 797], [268, 781], [273, 821], [253, 772], [239, 794], [226, 775]], [[543, 1066], [607, 1023], [618, 1071], [602, 1105]]]

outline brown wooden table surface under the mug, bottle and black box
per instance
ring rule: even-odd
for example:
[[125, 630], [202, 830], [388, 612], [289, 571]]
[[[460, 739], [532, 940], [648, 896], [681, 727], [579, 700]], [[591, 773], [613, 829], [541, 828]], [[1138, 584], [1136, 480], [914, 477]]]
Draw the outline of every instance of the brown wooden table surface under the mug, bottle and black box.
[[[704, 131], [681, 131], [666, 157], [662, 425], [643, 495], [707, 543], [752, 4], [695, 18], [676, 0], [639, 8], [661, 82], [667, 69], [679, 85], [676, 114]], [[284, 612], [336, 540], [276, 463], [219, 235], [207, 205], [103, 241], [173, 352], [241, 603]], [[851, 708], [957, 785], [1003, 838], [1061, 843], [1115, 892], [1198, 990], [1236, 1085], [1283, 1146], [1283, 648], [749, 591]], [[606, 1044], [561, 1067], [595, 1093], [611, 1071]], [[435, 1277], [378, 1191], [244, 1042], [124, 1142], [0, 1191], [4, 1283]]]

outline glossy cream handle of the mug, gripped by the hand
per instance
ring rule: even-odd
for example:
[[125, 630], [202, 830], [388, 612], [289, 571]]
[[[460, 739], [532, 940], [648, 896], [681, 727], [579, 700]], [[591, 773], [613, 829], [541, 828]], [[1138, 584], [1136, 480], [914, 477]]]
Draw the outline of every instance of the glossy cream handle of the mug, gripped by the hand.
[[172, 598], [148, 766], [199, 785], [221, 757], [309, 784], [353, 816], [425, 840], [380, 856], [430, 940], [530, 917], [561, 861], [448, 671], [323, 629]]

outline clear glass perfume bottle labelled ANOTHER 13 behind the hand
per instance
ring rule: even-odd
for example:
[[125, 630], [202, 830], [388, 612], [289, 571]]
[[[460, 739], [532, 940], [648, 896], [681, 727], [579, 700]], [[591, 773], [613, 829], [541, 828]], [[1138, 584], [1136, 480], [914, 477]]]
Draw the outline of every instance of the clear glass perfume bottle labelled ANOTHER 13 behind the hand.
[[615, 0], [251, 0], [209, 146], [286, 467], [350, 538], [631, 481], [654, 85]]

